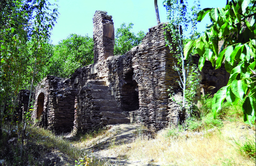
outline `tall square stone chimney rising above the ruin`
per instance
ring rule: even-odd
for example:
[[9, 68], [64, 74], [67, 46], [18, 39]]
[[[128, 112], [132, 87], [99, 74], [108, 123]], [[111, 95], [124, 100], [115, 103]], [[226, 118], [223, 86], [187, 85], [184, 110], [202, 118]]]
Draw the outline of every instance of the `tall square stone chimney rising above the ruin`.
[[93, 16], [94, 63], [114, 55], [115, 32], [112, 16], [96, 11]]

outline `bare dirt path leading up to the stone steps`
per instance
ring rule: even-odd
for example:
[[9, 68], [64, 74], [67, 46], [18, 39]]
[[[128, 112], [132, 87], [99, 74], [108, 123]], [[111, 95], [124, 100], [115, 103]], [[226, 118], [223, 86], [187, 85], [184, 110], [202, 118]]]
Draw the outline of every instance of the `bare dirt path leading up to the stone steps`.
[[94, 138], [86, 144], [81, 142], [75, 146], [84, 147], [92, 156], [99, 159], [108, 159], [113, 163], [119, 163], [118, 165], [156, 166], [155, 164], [150, 164], [145, 161], [124, 159], [124, 156], [118, 155], [120, 149], [117, 149], [117, 146], [132, 142], [135, 139], [134, 133], [136, 129], [140, 127], [139, 124], [115, 124], [108, 125], [107, 127], [109, 130], [104, 135]]

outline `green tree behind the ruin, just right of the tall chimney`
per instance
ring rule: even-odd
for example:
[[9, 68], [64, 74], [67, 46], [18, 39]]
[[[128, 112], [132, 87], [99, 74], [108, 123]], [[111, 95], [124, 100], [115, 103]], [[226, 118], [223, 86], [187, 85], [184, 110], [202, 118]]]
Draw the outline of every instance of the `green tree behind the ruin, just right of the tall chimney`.
[[143, 37], [146, 35], [143, 31], [138, 32], [137, 35], [130, 32], [132, 26], [132, 23], [129, 23], [127, 27], [126, 24], [123, 23], [120, 28], [117, 28], [114, 45], [115, 55], [122, 55], [127, 51], [130, 51], [132, 47], [139, 45]]

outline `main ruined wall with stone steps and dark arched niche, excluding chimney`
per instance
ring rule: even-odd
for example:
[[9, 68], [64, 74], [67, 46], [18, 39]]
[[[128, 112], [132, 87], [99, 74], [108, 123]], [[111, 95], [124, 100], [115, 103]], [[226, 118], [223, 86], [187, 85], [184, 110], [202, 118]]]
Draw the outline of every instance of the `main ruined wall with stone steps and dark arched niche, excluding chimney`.
[[[70, 87], [79, 92], [74, 129], [88, 130], [113, 122], [104, 117], [106, 114], [120, 114], [126, 122], [134, 116], [136, 122], [157, 129], [168, 125], [167, 89], [179, 88], [179, 76], [172, 69], [176, 59], [165, 44], [164, 24], [159, 24], [149, 29], [140, 46], [126, 54], [77, 69], [70, 78]], [[95, 91], [102, 95], [96, 97]]]

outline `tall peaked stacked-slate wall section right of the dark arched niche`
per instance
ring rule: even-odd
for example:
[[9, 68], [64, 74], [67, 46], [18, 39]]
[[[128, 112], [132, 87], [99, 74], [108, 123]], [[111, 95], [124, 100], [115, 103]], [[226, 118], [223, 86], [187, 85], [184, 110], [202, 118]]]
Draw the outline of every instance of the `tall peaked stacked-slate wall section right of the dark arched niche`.
[[139, 85], [140, 110], [136, 121], [156, 129], [168, 125], [168, 92], [178, 89], [177, 71], [172, 69], [177, 60], [165, 46], [164, 24], [149, 29], [132, 59], [133, 79]]

